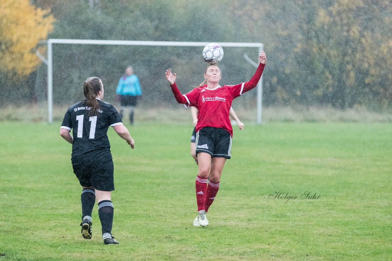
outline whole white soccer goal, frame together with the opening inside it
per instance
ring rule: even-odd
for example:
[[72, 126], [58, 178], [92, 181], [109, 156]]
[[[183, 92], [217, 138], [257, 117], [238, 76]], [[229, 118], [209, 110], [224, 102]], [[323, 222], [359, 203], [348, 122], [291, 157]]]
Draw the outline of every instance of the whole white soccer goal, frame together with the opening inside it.
[[[83, 99], [83, 81], [100, 77], [105, 89], [104, 100], [118, 105], [115, 90], [118, 79], [131, 65], [142, 85], [138, 113], [190, 110], [177, 104], [165, 79], [165, 70], [176, 72], [176, 83], [185, 94], [203, 81], [208, 65], [202, 50], [208, 42], [114, 41], [49, 39], [47, 41], [47, 108], [48, 122], [53, 121], [54, 107], [67, 107]], [[225, 58], [218, 64], [222, 70], [221, 85], [248, 81], [256, 68], [243, 59], [243, 54], [257, 61], [261, 43], [219, 43]], [[44, 77], [42, 73], [39, 75]], [[40, 81], [40, 79], [38, 79]], [[41, 81], [44, 82], [44, 81]], [[41, 86], [40, 88], [43, 88]], [[45, 92], [45, 90], [42, 90]], [[235, 99], [233, 108], [243, 118], [261, 123], [262, 80], [255, 90]], [[243, 114], [243, 115], [241, 115]], [[147, 117], [148, 118], [148, 117]]]

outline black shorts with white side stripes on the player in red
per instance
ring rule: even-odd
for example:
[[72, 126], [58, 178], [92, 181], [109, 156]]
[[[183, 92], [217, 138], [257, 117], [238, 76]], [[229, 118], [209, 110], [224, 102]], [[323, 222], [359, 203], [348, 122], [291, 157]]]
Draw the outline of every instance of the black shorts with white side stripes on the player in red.
[[196, 156], [205, 152], [211, 157], [231, 157], [231, 135], [222, 128], [204, 127], [196, 133]]

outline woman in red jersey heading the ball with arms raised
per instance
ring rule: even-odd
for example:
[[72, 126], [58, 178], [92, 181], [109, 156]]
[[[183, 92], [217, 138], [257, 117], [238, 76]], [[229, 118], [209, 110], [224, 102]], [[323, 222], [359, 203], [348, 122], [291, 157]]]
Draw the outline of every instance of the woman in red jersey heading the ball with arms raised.
[[196, 155], [199, 166], [196, 177], [198, 216], [193, 221], [196, 227], [208, 226], [206, 212], [218, 193], [226, 159], [231, 156], [233, 134], [229, 119], [231, 103], [236, 97], [256, 87], [267, 62], [267, 56], [261, 52], [258, 59], [259, 67], [252, 79], [246, 83], [220, 86], [220, 69], [216, 65], [209, 65], [204, 72], [205, 82], [184, 95], [177, 88], [176, 74], [172, 74], [170, 69], [165, 73], [177, 102], [184, 104], [185, 107], [194, 106], [199, 110], [196, 124]]

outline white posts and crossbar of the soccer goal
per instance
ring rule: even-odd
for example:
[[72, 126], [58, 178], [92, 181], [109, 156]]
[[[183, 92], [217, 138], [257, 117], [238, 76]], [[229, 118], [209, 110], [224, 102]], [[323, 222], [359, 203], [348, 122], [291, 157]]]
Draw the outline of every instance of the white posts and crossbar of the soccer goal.
[[[53, 44], [90, 44], [90, 45], [138, 45], [138, 46], [182, 46], [193, 47], [209, 44], [209, 42], [181, 42], [181, 41], [120, 41], [120, 40], [82, 40], [82, 39], [48, 39], [47, 40], [47, 98], [48, 98], [48, 122], [53, 122]], [[256, 47], [259, 53], [264, 48], [263, 43], [219, 43], [222, 47]], [[247, 59], [247, 56], [244, 58]], [[252, 63], [258, 66], [258, 63]], [[263, 76], [257, 84], [257, 123], [261, 124], [261, 103], [263, 95]]]

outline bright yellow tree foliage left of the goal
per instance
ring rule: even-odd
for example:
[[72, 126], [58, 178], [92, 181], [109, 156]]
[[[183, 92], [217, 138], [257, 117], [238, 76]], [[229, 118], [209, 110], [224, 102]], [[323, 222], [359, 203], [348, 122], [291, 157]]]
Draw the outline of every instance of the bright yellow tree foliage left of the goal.
[[40, 64], [35, 48], [53, 30], [50, 10], [29, 4], [29, 0], [0, 1], [0, 70], [23, 78]]

